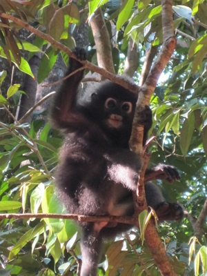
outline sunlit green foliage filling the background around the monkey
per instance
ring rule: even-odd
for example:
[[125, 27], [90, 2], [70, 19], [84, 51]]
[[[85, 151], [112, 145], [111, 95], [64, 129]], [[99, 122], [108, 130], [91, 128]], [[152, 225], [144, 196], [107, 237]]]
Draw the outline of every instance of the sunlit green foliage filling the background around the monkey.
[[[75, 3], [66, 2], [0, 0], [0, 10], [25, 22], [32, 22], [36, 28], [73, 48], [74, 27], [83, 18]], [[155, 164], [165, 161], [180, 170], [180, 182], [158, 182], [158, 185], [166, 199], [179, 199], [190, 215], [198, 217], [206, 200], [207, 2], [176, 1], [173, 4], [178, 43], [165, 76], [160, 79], [151, 99], [154, 115], [151, 132], [156, 136], [156, 141], [150, 146], [151, 161]], [[117, 64], [121, 64], [123, 57], [126, 57], [129, 36], [137, 43], [140, 61], [135, 81], [138, 81], [146, 51], [150, 46], [162, 43], [161, 6], [157, 6], [157, 1], [148, 0], [139, 1], [138, 6], [131, 0], [124, 1], [121, 6], [119, 1], [89, 1], [88, 8], [81, 8], [88, 12], [90, 18], [98, 6], [103, 9], [107, 23], [112, 21], [117, 26], [117, 33], [112, 37], [115, 39], [114, 49], [119, 50]], [[17, 23], [1, 18], [0, 55], [8, 63], [14, 63], [19, 70], [33, 77], [28, 61], [21, 54], [28, 51], [30, 58], [34, 52], [44, 52], [37, 77], [41, 83], [49, 75], [59, 53], [68, 62], [63, 52], [47, 45], [48, 42], [42, 38], [36, 37], [33, 43], [19, 39], [19, 29]], [[90, 29], [89, 34], [88, 57], [96, 63]], [[46, 45], [47, 50], [43, 51]], [[0, 74], [1, 86], [5, 77], [4, 70]], [[23, 93], [19, 88], [19, 83], [12, 83], [7, 94], [0, 95], [1, 108], [6, 110], [12, 121], [12, 124], [0, 122], [1, 213], [65, 213], [66, 210], [55, 197], [53, 177], [61, 136], [43, 119], [34, 117], [31, 126], [14, 120], [10, 108], [19, 102]], [[205, 223], [204, 233], [206, 227]], [[2, 219], [0, 228], [0, 274], [75, 275], [80, 248], [79, 233], [73, 221]], [[180, 224], [161, 224], [159, 235], [166, 244], [177, 275], [182, 275], [184, 270], [188, 275], [206, 273], [204, 239], [203, 244], [197, 244], [194, 249], [190, 247], [188, 265], [188, 241], [194, 235], [188, 219]], [[148, 248], [142, 245], [139, 233], [131, 230], [128, 236], [118, 237], [116, 242], [106, 244], [99, 275], [159, 275], [159, 272]]]

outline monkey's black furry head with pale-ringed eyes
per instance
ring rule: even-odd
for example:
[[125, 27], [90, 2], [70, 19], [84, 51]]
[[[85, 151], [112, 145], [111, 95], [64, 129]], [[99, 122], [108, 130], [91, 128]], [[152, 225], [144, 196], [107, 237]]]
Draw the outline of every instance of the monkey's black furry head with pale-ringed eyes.
[[113, 140], [129, 139], [137, 95], [111, 81], [105, 81], [91, 95], [90, 112], [106, 135]]

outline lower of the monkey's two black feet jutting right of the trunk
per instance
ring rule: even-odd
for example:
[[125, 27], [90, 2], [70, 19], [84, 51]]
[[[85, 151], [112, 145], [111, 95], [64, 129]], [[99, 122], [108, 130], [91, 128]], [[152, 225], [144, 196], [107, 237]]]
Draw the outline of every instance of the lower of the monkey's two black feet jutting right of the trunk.
[[184, 217], [184, 211], [177, 203], [161, 202], [155, 208], [155, 212], [159, 221], [181, 220]]

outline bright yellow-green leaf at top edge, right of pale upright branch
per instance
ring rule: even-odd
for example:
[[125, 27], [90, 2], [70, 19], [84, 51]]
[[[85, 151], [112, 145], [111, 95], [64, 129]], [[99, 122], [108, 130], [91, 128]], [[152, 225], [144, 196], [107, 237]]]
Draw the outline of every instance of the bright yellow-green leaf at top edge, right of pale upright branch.
[[121, 5], [119, 17], [117, 19], [117, 30], [119, 30], [121, 26], [123, 26], [124, 23], [130, 18], [134, 3], [134, 0], [125, 0], [124, 3]]

